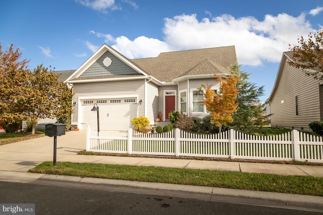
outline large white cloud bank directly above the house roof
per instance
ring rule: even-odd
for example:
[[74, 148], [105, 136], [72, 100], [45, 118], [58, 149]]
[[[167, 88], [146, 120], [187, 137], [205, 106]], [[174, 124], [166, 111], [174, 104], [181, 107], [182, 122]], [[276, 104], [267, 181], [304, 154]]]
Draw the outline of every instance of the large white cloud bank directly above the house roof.
[[[279, 62], [282, 53], [289, 50], [289, 44], [296, 44], [299, 36], [314, 31], [305, 14], [298, 17], [266, 15], [262, 21], [231, 15], [199, 21], [195, 14], [183, 14], [165, 19], [164, 41], [145, 36], [132, 41], [126, 36], [113, 38], [110, 34], [91, 33], [113, 43], [113, 48], [129, 58], [153, 57], [172, 50], [235, 45], [239, 64], [258, 66], [265, 61]], [[92, 44], [88, 47], [93, 52], [98, 48]]]

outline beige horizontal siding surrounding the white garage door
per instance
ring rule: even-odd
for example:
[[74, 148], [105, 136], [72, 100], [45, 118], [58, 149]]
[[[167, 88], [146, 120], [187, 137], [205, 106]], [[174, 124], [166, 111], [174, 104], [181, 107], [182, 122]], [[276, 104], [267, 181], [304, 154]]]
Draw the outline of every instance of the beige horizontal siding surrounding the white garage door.
[[[96, 83], [74, 83], [74, 100], [77, 103], [75, 110], [79, 109], [81, 98], [118, 98], [118, 97], [137, 97], [138, 101], [142, 100], [142, 104], [138, 105], [138, 115], [144, 116], [144, 90], [145, 80], [128, 80], [113, 82], [96, 82]], [[72, 125], [78, 125], [79, 112], [72, 114]]]

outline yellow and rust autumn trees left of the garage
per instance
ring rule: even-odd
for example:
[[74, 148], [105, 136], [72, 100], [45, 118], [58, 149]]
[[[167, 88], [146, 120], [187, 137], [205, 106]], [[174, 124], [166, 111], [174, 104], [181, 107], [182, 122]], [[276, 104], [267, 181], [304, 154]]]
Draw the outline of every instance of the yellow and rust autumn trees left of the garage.
[[[0, 45], [0, 50], [2, 46]], [[13, 45], [0, 52], [0, 120], [33, 123], [38, 118], [66, 118], [72, 114], [72, 89], [43, 65], [33, 70]]]

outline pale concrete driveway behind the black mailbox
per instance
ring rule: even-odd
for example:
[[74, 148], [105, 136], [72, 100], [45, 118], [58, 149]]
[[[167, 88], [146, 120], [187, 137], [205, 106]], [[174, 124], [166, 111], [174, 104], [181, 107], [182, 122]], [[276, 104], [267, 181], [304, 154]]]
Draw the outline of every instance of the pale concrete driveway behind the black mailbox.
[[[54, 137], [43, 136], [0, 146], [0, 170], [27, 172], [53, 161]], [[85, 150], [86, 131], [68, 131], [57, 137], [57, 161]]]

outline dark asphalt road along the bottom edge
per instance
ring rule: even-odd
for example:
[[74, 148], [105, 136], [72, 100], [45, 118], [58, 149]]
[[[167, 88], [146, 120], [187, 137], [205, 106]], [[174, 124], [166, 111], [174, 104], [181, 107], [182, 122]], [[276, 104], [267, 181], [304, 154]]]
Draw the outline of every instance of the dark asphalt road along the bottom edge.
[[138, 194], [127, 188], [120, 192], [112, 187], [46, 183], [0, 182], [0, 203], [35, 203], [36, 214], [323, 214], [253, 205], [252, 199], [250, 204], [241, 204], [172, 197], [152, 190], [150, 194], [139, 190]]

